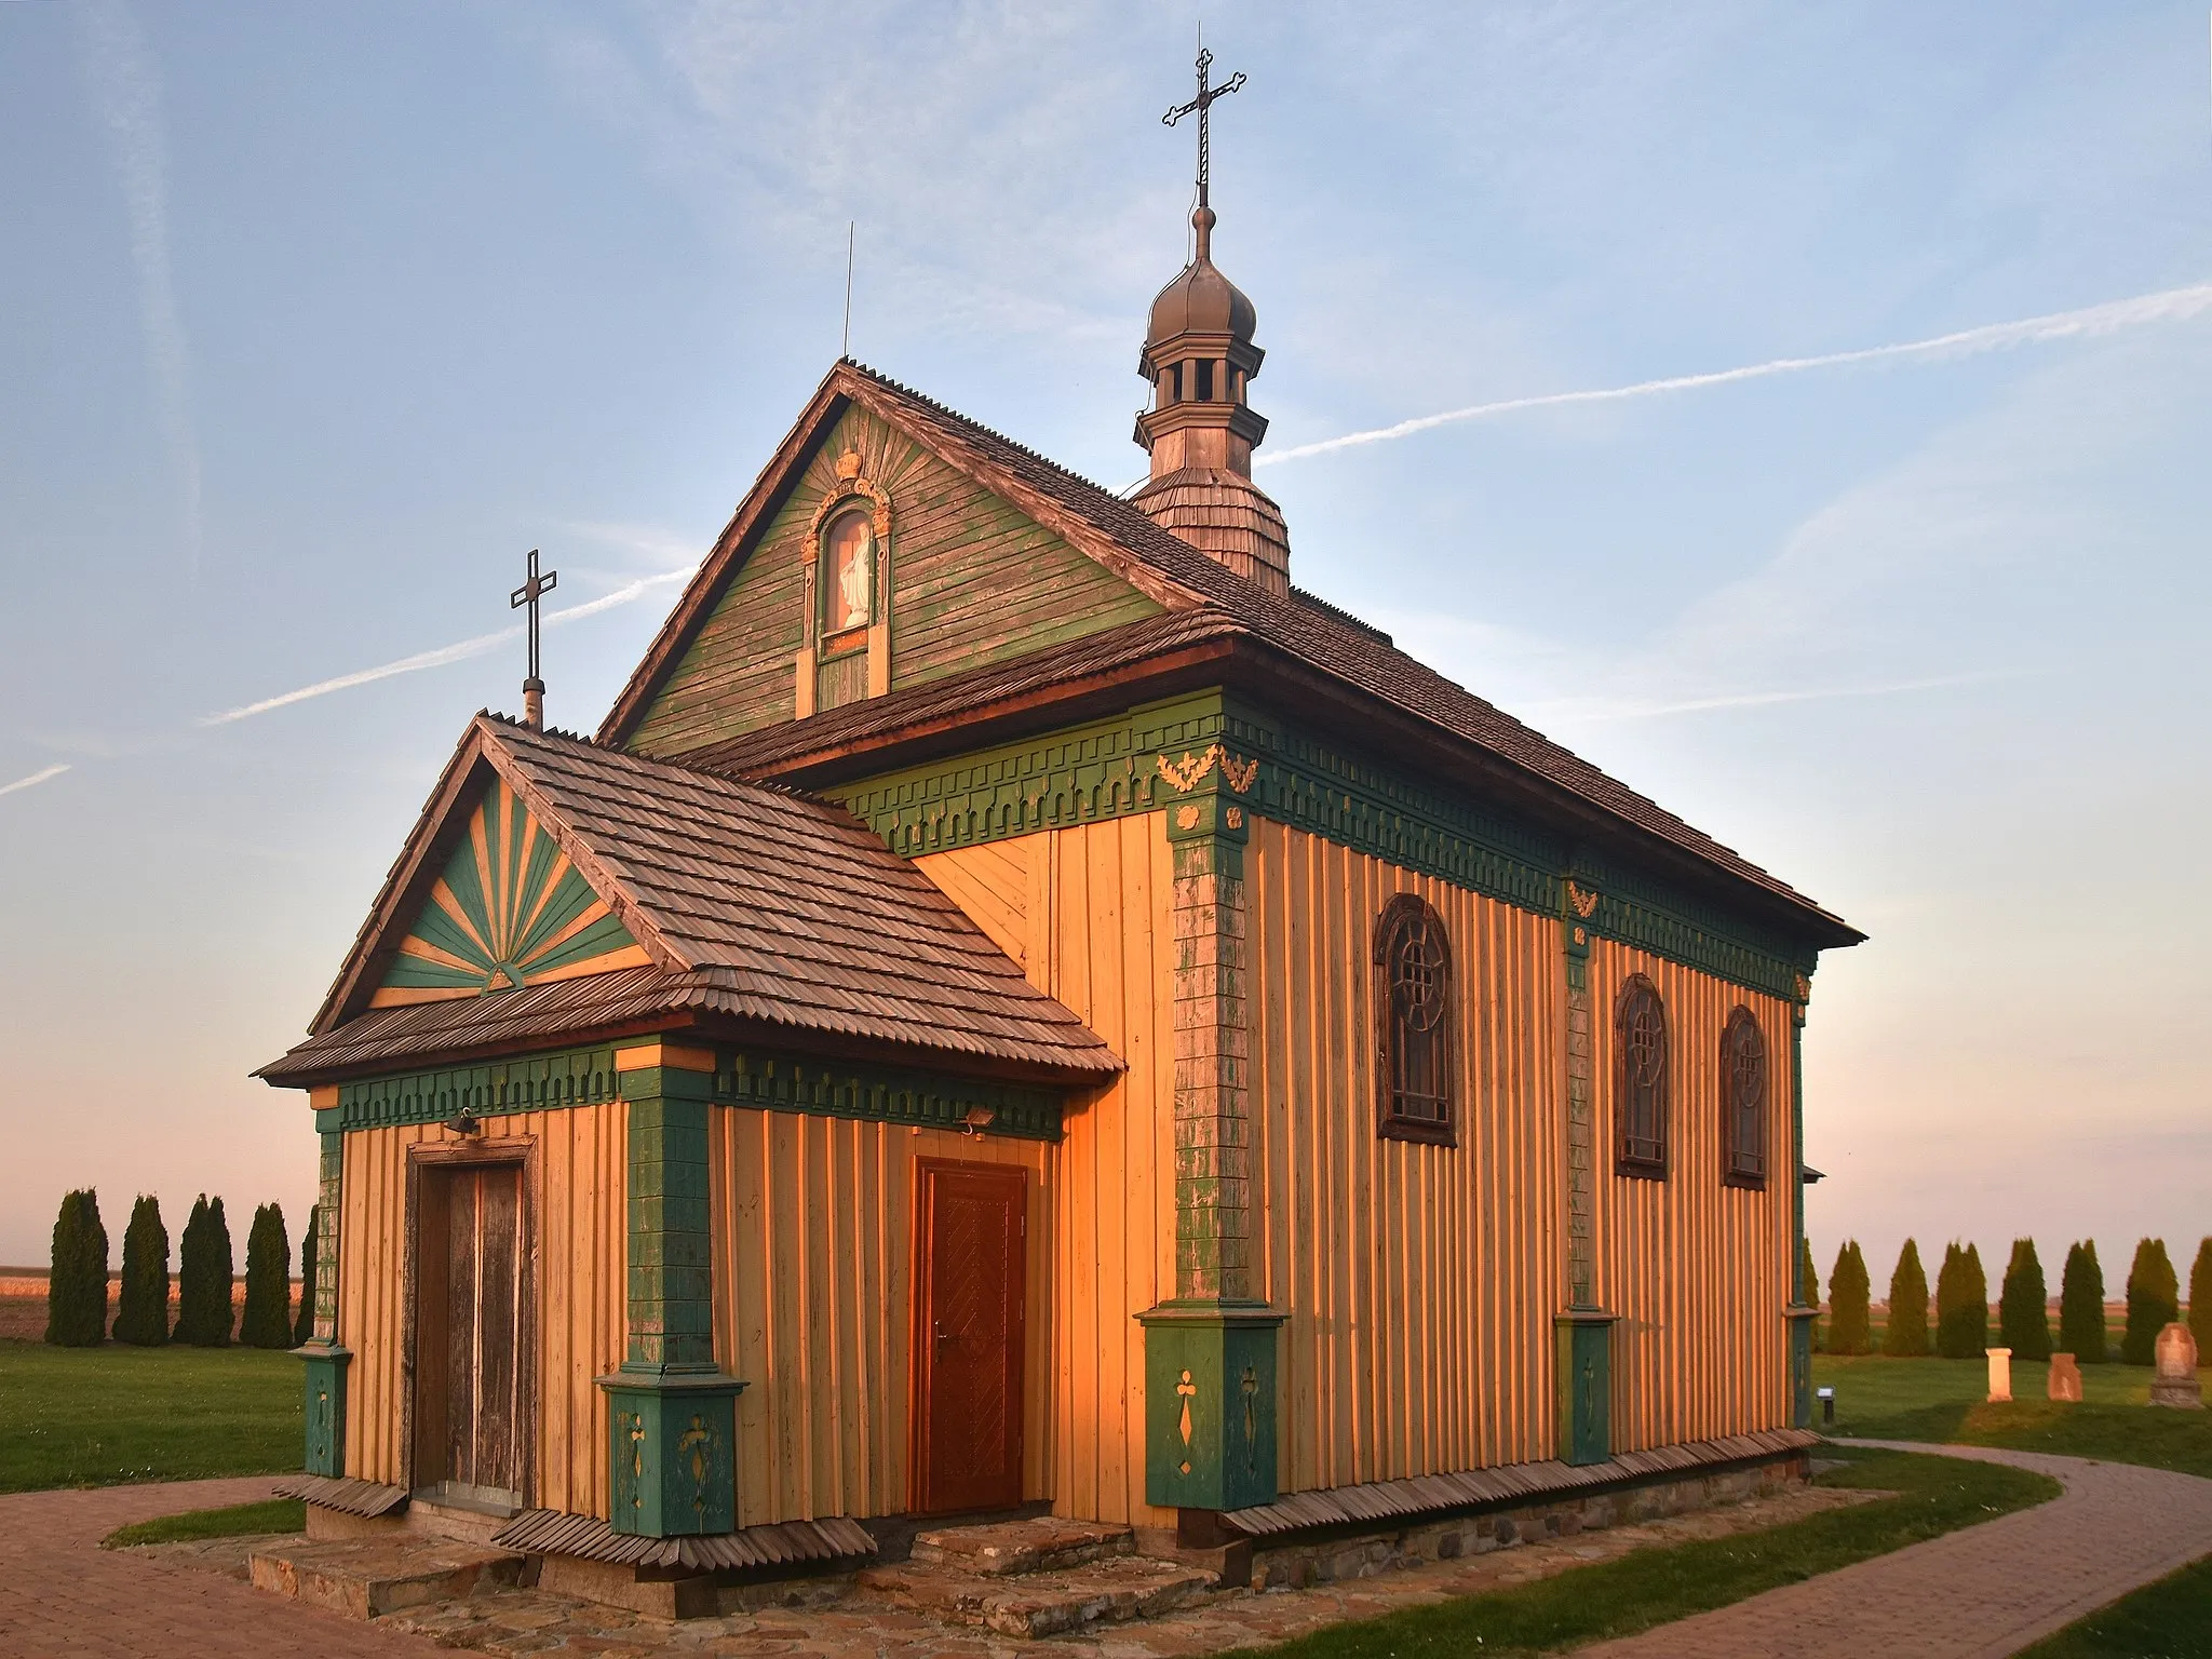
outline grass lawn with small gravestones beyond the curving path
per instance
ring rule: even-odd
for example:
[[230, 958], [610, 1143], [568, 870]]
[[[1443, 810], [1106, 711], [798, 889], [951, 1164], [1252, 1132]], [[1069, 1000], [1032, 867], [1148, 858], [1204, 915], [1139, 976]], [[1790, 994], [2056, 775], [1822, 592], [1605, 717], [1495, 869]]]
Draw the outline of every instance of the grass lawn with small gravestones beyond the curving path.
[[[1836, 1389], [1829, 1433], [1874, 1440], [1955, 1440], [1969, 1447], [2055, 1451], [2212, 1475], [2212, 1411], [2150, 1405], [2150, 1367], [2084, 1365], [2081, 1402], [2044, 1398], [2048, 1367], [2013, 1365], [2011, 1405], [1986, 1405], [1984, 1360], [1889, 1360], [1816, 1354], [1814, 1383]], [[2212, 1396], [2212, 1376], [2205, 1376]], [[1818, 1416], [1816, 1427], [1823, 1427]]]

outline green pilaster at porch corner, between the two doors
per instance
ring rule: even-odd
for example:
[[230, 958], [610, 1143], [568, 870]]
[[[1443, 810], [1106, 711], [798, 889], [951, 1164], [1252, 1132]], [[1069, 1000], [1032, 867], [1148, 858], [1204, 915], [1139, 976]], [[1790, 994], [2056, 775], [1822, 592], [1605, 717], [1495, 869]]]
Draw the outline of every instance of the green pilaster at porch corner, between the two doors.
[[639, 1537], [728, 1533], [737, 1526], [737, 1396], [745, 1385], [714, 1367], [712, 1055], [635, 1044], [617, 1053], [617, 1071], [630, 1121], [630, 1283], [622, 1369], [599, 1378], [611, 1524]]

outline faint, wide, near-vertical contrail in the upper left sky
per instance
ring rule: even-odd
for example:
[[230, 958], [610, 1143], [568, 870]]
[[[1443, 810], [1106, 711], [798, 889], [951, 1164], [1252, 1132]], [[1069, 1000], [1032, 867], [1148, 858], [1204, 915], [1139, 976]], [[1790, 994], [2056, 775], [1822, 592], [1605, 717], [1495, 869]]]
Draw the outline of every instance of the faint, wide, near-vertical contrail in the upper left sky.
[[115, 170], [131, 219], [131, 263], [139, 279], [139, 325], [146, 330], [146, 369], [155, 416], [184, 491], [186, 566], [199, 575], [199, 438], [186, 398], [184, 323], [177, 319], [177, 281], [168, 263], [168, 153], [161, 142], [161, 86], [139, 29], [124, 0], [84, 0], [84, 71], [100, 119], [115, 144]]

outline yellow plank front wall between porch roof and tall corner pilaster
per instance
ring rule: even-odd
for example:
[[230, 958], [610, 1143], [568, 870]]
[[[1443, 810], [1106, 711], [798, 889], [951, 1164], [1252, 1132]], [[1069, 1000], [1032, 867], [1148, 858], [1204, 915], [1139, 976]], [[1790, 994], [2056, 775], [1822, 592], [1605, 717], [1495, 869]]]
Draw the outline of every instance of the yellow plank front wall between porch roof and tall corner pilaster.
[[[1128, 1062], [1066, 1113], [1051, 1285], [1051, 1484], [1062, 1515], [1172, 1526], [1144, 1502], [1144, 1327], [1175, 1283], [1175, 869], [1161, 814], [916, 860]], [[1148, 922], [1148, 925], [1146, 925]]]

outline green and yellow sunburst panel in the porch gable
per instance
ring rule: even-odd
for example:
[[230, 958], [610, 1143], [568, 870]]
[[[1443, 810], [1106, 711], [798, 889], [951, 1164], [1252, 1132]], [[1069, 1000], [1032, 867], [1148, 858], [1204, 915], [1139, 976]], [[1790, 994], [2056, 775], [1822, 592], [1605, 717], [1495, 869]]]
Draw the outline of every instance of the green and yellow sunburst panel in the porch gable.
[[369, 1006], [473, 998], [650, 960], [507, 781], [493, 779]]

